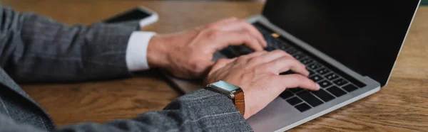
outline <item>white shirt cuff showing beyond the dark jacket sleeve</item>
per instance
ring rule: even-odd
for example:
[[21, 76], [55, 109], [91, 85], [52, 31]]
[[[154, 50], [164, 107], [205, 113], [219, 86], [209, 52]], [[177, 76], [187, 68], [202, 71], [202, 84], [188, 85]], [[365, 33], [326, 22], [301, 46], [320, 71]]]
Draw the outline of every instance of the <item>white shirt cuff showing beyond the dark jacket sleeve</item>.
[[134, 31], [129, 37], [128, 47], [126, 48], [126, 65], [130, 72], [148, 70], [147, 48], [153, 32]]

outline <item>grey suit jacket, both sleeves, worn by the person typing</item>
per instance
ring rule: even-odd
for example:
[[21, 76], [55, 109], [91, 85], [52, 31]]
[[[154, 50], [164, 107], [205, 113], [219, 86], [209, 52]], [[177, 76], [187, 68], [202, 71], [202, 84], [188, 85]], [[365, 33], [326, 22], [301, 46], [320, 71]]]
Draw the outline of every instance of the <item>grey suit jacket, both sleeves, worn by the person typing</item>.
[[252, 131], [228, 97], [205, 89], [135, 119], [56, 128], [16, 84], [129, 77], [126, 44], [134, 30], [103, 23], [68, 26], [0, 5], [0, 131]]

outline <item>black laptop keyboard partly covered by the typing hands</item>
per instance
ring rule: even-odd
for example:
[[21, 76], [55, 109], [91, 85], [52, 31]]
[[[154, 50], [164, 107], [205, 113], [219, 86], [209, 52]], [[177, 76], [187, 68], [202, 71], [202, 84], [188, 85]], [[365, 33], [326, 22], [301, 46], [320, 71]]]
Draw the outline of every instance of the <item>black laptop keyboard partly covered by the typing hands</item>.
[[[294, 106], [297, 110], [301, 112], [307, 111], [363, 87], [361, 84], [355, 84], [348, 81], [350, 79], [346, 79], [345, 77], [337, 74], [337, 72], [325, 67], [325, 65], [322, 65], [317, 60], [298, 50], [298, 48], [295, 48], [294, 45], [290, 45], [290, 43], [286, 43], [279, 38], [275, 38], [275, 35], [273, 35], [272, 32], [267, 31], [257, 23], [255, 24], [255, 27], [263, 34], [263, 37], [267, 42], [267, 48], [265, 48], [265, 50], [285, 50], [285, 52], [289, 53], [297, 60], [300, 60], [302, 64], [306, 65], [307, 70], [310, 72], [309, 78], [320, 84], [321, 89], [316, 92], [302, 88], [292, 88], [286, 89], [282, 94], [280, 94], [282, 99], [285, 99], [285, 101]], [[253, 53], [253, 50], [246, 46], [229, 46], [228, 48], [220, 50], [220, 53], [227, 57], [238, 57], [240, 55]], [[280, 75], [287, 74], [292, 74], [292, 72], [284, 72]]]

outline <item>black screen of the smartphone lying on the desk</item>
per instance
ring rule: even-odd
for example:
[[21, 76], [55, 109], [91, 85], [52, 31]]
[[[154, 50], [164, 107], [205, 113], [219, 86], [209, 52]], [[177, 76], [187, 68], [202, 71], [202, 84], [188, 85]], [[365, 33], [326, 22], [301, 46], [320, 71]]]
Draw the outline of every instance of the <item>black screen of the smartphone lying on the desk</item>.
[[113, 18], [108, 18], [104, 22], [120, 23], [124, 21], [138, 21], [143, 18], [147, 18], [148, 16], [151, 16], [151, 14], [146, 13], [146, 11], [141, 11], [141, 9], [132, 9], [131, 11], [127, 11], [126, 13], [119, 14], [118, 16], [114, 16]]

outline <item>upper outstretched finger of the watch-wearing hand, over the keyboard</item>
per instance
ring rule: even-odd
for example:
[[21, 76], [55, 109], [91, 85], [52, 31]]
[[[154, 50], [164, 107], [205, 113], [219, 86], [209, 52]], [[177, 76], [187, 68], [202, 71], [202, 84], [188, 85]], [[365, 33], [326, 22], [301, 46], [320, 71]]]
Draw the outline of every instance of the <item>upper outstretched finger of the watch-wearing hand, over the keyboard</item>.
[[295, 60], [292, 57], [279, 57], [276, 60], [272, 60], [265, 64], [267, 70], [275, 74], [280, 74], [282, 72], [287, 72], [292, 70], [300, 75], [308, 76], [309, 72], [306, 70], [305, 65], [302, 65], [298, 60]]

